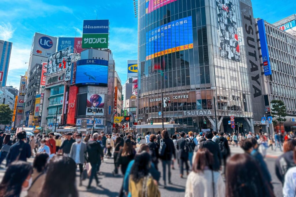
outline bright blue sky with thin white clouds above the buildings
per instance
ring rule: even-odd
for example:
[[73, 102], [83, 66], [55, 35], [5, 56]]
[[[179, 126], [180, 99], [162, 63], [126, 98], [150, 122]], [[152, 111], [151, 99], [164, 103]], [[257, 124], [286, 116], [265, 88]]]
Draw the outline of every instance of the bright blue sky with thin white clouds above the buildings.
[[[294, 0], [253, 0], [254, 17], [273, 23], [294, 13]], [[126, 81], [127, 60], [137, 59], [137, 18], [133, 0], [0, 1], [0, 39], [13, 43], [7, 85], [19, 87], [28, 69], [30, 45], [35, 32], [51, 36], [82, 36], [83, 19], [109, 19], [109, 48], [115, 70]]]

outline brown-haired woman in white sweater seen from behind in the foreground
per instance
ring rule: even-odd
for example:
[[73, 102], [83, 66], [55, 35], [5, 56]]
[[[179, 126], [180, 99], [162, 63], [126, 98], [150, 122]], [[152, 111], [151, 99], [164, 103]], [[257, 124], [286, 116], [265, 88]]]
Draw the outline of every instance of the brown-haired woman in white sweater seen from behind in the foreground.
[[213, 154], [207, 148], [197, 151], [188, 175], [185, 196], [225, 196], [225, 183], [220, 172], [213, 170]]

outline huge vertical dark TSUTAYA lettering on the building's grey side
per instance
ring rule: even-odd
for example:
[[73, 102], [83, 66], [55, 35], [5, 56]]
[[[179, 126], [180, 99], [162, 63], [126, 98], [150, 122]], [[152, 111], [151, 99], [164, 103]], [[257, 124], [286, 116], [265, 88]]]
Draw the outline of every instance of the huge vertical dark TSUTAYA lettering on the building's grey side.
[[240, 8], [242, 13], [242, 26], [243, 26], [243, 34], [244, 34], [244, 43], [246, 48], [246, 56], [247, 56], [247, 65], [250, 69], [251, 75], [251, 94], [253, 98], [259, 97], [262, 95], [261, 91], [261, 72], [259, 70], [259, 60], [257, 55], [257, 47], [256, 47], [256, 30], [255, 25], [253, 23], [253, 11], [250, 6], [242, 3], [240, 1]]

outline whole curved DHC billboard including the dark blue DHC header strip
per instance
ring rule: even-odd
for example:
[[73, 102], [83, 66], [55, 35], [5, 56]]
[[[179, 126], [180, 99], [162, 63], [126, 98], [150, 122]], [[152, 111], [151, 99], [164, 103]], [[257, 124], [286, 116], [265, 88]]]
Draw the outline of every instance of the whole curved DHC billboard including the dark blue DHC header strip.
[[75, 83], [77, 85], [107, 86], [108, 61], [101, 59], [78, 60]]

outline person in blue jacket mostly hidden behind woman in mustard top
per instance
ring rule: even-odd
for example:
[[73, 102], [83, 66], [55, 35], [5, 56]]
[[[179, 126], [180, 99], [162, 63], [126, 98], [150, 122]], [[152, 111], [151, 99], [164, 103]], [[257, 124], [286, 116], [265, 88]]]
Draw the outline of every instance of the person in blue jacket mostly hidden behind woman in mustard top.
[[[149, 152], [149, 146], [147, 144], [142, 144], [140, 146], [138, 153], [141, 153], [143, 151]], [[131, 197], [131, 193], [128, 191], [128, 183], [129, 183], [131, 167], [133, 166], [134, 162], [135, 162], [135, 160], [133, 159], [128, 163], [128, 167], [126, 169], [126, 173], [125, 173], [124, 179], [123, 179], [123, 190], [124, 190], [125, 196], [128, 196], [128, 197]], [[151, 174], [151, 176], [153, 177], [154, 180], [156, 180], [157, 182], [159, 181], [160, 172], [158, 172], [156, 170], [156, 168], [152, 162], [151, 162], [151, 167], [150, 167], [149, 173]]]

